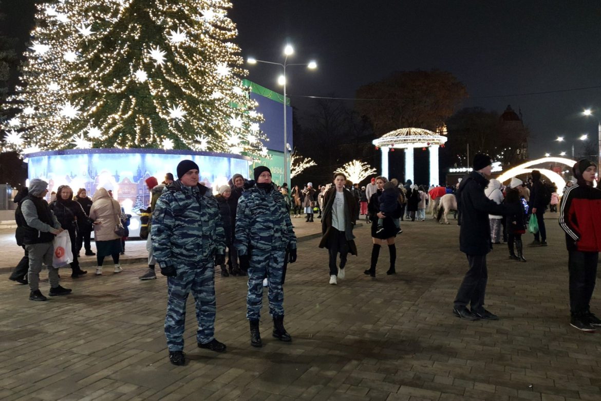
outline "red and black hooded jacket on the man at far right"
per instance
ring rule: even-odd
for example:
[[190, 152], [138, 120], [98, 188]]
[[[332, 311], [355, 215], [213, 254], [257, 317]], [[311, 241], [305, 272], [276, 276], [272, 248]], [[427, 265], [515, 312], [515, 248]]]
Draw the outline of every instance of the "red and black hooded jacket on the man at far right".
[[561, 199], [559, 223], [569, 251], [601, 251], [601, 189], [570, 186]]

